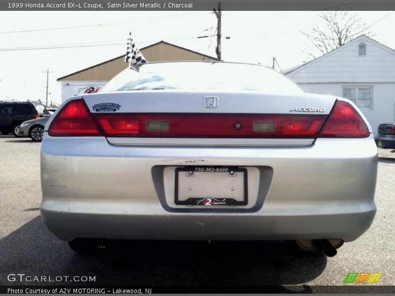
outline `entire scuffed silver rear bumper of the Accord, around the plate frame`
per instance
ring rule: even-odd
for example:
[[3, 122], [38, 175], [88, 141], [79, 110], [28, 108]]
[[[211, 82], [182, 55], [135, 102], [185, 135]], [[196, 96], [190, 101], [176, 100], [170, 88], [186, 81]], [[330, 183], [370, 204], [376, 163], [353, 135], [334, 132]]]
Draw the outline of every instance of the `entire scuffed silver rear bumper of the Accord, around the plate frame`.
[[[172, 167], [250, 170], [245, 207], [176, 206]], [[313, 146], [131, 147], [103, 138], [41, 146], [41, 214], [59, 238], [355, 240], [373, 221], [377, 148], [369, 139]], [[251, 189], [251, 190], [250, 190]]]

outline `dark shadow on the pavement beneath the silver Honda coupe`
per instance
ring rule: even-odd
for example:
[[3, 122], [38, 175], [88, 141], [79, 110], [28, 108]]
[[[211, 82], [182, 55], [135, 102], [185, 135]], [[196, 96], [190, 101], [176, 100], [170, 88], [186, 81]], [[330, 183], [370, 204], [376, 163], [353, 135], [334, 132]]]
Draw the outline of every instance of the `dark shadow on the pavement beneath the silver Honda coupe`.
[[[56, 283], [68, 285], [280, 287], [315, 279], [327, 263], [325, 255], [302, 252], [290, 241], [112, 240], [109, 246], [94, 254], [75, 253], [37, 216], [0, 240], [0, 285], [24, 284], [6, 279], [9, 273], [25, 273], [96, 279], [93, 283]], [[309, 286], [298, 287], [296, 292], [310, 293]]]

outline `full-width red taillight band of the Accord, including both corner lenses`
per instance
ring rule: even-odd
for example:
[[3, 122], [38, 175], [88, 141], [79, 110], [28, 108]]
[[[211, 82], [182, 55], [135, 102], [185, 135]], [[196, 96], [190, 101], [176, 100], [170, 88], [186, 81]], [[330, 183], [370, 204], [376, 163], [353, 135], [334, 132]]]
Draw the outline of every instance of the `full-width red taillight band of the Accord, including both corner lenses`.
[[[325, 122], [325, 123], [324, 123]], [[395, 127], [392, 132], [395, 133]], [[368, 128], [349, 104], [318, 114], [94, 113], [73, 100], [53, 119], [50, 136], [202, 138], [366, 138]]]

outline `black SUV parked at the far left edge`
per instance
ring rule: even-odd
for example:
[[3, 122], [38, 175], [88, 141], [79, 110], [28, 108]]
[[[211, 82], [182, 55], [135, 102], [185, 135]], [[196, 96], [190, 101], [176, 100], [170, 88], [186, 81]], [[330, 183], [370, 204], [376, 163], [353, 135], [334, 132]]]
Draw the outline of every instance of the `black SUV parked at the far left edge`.
[[22, 122], [40, 118], [36, 106], [30, 102], [0, 102], [0, 133], [19, 137], [19, 126]]

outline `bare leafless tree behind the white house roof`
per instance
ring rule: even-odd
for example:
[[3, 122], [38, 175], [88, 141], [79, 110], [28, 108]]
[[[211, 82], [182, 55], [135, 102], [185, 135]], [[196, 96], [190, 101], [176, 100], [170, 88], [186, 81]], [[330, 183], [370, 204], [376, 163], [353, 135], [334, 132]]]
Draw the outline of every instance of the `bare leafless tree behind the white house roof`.
[[[311, 32], [301, 31], [301, 33], [309, 38], [322, 54], [342, 46], [361, 33], [368, 36], [374, 35], [370, 31], [365, 32], [366, 24], [356, 13], [323, 11], [319, 19], [319, 25], [313, 27]], [[312, 53], [308, 54], [316, 58]]]

